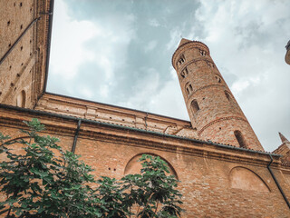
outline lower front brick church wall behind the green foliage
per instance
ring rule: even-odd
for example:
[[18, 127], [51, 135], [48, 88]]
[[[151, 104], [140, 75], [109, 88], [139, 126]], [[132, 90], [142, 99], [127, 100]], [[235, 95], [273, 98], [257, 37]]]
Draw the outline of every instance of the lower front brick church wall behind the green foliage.
[[[38, 117], [46, 125], [44, 134], [61, 139], [71, 150], [76, 120], [0, 108], [0, 132], [19, 136], [21, 120]], [[127, 163], [138, 154], [157, 154], [179, 178], [183, 193], [182, 217], [289, 217], [289, 209], [266, 169], [266, 154], [237, 151], [214, 144], [108, 124], [82, 122], [75, 154], [92, 166], [96, 177], [121, 178]], [[138, 164], [138, 163], [136, 163]], [[272, 169], [288, 198], [289, 170], [284, 173], [274, 156]], [[247, 183], [248, 185], [245, 185]]]

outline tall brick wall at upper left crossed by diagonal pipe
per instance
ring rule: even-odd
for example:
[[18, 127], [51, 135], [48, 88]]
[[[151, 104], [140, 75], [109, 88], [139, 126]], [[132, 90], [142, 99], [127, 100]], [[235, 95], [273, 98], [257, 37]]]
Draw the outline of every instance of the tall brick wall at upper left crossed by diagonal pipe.
[[[43, 92], [50, 1], [0, 2], [0, 102], [32, 108]], [[36, 21], [35, 19], [38, 18]]]

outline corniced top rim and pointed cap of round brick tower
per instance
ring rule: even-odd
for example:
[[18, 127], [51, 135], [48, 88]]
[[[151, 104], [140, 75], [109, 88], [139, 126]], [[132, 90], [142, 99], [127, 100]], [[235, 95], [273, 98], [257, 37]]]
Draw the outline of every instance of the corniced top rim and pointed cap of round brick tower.
[[208, 46], [205, 45], [204, 43], [196, 41], [196, 40], [189, 40], [189, 39], [182, 38], [179, 43], [179, 47], [176, 49], [176, 51], [172, 55], [171, 64], [173, 65], [174, 68], [177, 61], [176, 58], [179, 56], [179, 54], [184, 52], [184, 50], [188, 49], [189, 47], [198, 47], [200, 49], [204, 49], [209, 54]]

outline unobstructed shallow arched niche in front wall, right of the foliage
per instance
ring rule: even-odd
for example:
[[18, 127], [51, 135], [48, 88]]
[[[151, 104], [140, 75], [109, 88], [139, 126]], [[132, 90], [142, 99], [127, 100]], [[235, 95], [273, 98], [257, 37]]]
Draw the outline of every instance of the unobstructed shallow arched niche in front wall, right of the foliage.
[[241, 166], [237, 166], [230, 171], [229, 183], [231, 188], [257, 192], [270, 192], [269, 187], [260, 176]]

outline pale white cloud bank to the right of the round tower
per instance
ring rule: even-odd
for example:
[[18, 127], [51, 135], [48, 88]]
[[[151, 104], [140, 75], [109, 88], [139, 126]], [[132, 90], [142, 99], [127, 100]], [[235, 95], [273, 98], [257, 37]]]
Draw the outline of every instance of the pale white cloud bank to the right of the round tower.
[[277, 132], [290, 132], [289, 8], [288, 1], [202, 0], [196, 13], [204, 43], [267, 151], [280, 144]]

